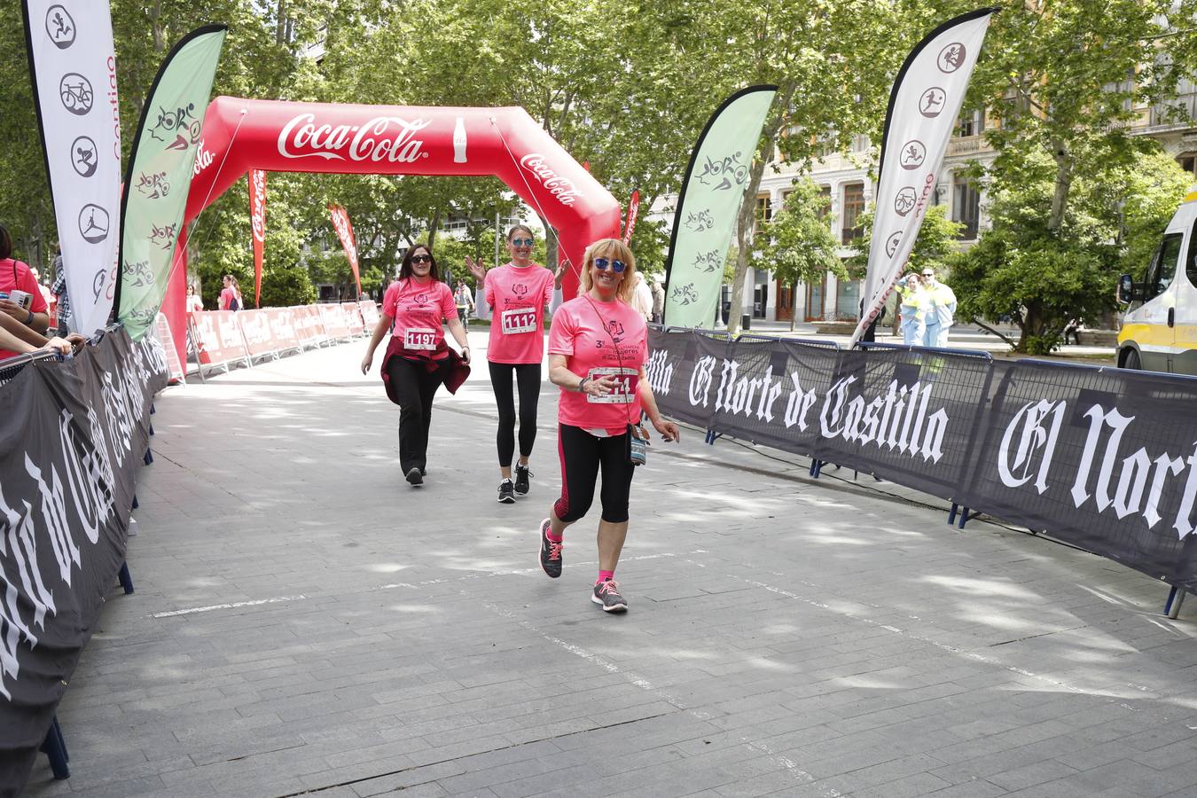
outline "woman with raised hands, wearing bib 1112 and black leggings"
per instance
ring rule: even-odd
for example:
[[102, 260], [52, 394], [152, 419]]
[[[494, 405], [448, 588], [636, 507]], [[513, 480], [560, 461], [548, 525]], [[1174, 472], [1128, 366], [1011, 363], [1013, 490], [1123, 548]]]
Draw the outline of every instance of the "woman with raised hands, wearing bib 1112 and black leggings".
[[[553, 299], [553, 273], [531, 262], [536, 240], [531, 231], [516, 225], [508, 231], [511, 261], [486, 270], [480, 261], [466, 257], [466, 268], [484, 286], [482, 301], [491, 309], [491, 340], [486, 364], [499, 409], [499, 501], [515, 504], [516, 494], [531, 487], [528, 458], [536, 441], [536, 403], [540, 398], [540, 363], [545, 358], [545, 307]], [[516, 403], [511, 379], [519, 392], [519, 459], [511, 479], [516, 447]]]

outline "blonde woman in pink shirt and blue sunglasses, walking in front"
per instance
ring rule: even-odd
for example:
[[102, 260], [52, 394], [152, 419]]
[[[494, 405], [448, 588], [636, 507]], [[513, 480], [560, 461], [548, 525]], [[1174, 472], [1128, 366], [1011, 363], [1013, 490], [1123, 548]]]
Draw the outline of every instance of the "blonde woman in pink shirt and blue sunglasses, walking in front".
[[644, 373], [648, 327], [628, 304], [634, 274], [636, 261], [622, 242], [591, 244], [582, 291], [557, 309], [548, 333], [548, 379], [561, 388], [561, 497], [540, 524], [540, 566], [554, 579], [561, 575], [565, 528], [587, 514], [601, 470], [598, 578], [590, 598], [608, 613], [627, 609], [614, 577], [627, 537], [636, 439], [648, 440], [642, 413], [663, 440], [678, 440], [678, 425], [661, 418]]

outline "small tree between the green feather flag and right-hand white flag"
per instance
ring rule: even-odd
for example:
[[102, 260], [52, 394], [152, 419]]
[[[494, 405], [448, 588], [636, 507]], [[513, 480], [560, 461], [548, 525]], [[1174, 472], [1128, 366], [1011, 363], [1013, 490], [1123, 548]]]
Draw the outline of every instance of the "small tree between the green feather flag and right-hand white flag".
[[[758, 231], [757, 240], [766, 243], [749, 254], [749, 266], [771, 269], [773, 276], [795, 293], [798, 282], [819, 282], [827, 272], [840, 280], [847, 279], [847, 269], [839, 258], [839, 242], [827, 226], [830, 207], [831, 197], [825, 196], [814, 181], [795, 181], [780, 209]], [[791, 331], [794, 324], [791, 312]]]

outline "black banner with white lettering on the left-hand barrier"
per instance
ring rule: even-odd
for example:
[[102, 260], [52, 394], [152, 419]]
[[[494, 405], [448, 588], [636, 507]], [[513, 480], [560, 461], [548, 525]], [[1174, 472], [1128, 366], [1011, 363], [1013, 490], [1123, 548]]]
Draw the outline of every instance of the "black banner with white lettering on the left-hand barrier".
[[0, 794], [25, 784], [124, 561], [150, 403], [153, 336], [108, 333], [0, 386]]

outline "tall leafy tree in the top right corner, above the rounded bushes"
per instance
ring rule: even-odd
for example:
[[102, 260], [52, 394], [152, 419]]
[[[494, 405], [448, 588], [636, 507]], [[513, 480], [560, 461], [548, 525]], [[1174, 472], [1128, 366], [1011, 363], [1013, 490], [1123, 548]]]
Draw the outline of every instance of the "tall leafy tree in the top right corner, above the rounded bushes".
[[994, 18], [972, 96], [994, 109], [997, 172], [1051, 163], [1045, 229], [1062, 231], [1073, 185], [1093, 169], [1134, 169], [1153, 145], [1138, 109], [1175, 95], [1193, 68], [1197, 0], [1032, 0]]

